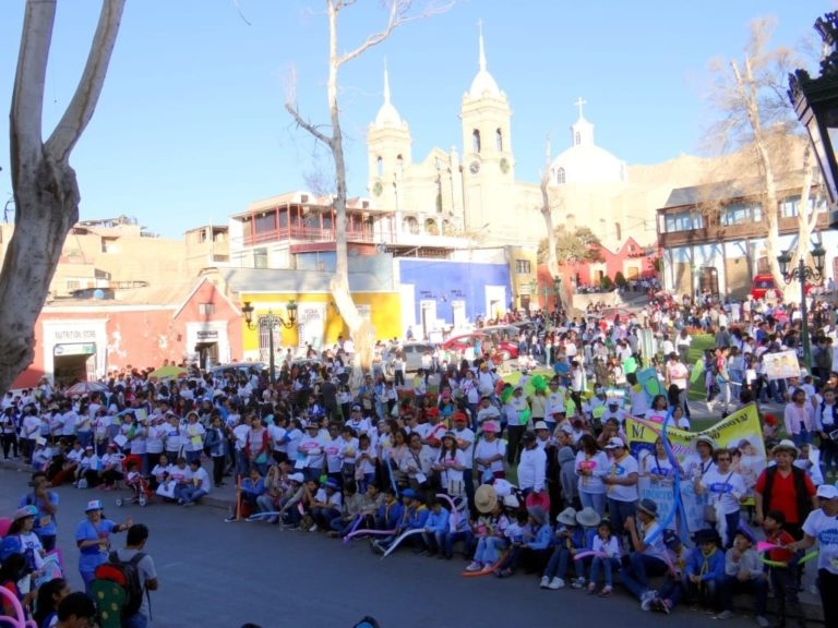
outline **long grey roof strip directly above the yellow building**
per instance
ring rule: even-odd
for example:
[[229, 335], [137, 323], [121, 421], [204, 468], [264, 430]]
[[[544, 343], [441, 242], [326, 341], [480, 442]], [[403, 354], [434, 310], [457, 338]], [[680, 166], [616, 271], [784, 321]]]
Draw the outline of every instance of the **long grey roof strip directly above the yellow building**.
[[[352, 264], [352, 259], [349, 264]], [[289, 270], [275, 268], [219, 268], [218, 274], [227, 282], [230, 292], [331, 292], [330, 281], [334, 273], [320, 270]], [[349, 273], [351, 292], [393, 292], [392, 267], [390, 271]]]

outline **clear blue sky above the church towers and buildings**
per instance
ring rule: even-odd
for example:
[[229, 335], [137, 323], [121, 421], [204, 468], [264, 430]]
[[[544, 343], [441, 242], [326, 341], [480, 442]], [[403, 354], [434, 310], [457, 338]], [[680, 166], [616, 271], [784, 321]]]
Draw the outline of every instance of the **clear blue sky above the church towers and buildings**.
[[[420, 1], [420, 0], [417, 0]], [[241, 13], [250, 25], [239, 15]], [[23, 0], [0, 7], [0, 107], [8, 111]], [[70, 101], [99, 2], [59, 0], [45, 133]], [[826, 0], [463, 0], [415, 22], [345, 67], [343, 126], [351, 195], [368, 194], [364, 134], [382, 99], [384, 58], [393, 102], [410, 124], [414, 160], [433, 146], [460, 149], [457, 113], [477, 72], [482, 20], [489, 71], [514, 116], [517, 178], [536, 181], [543, 144], [568, 145], [587, 100], [597, 144], [630, 165], [697, 153], [714, 120], [704, 99], [708, 62], [741, 57], [747, 25], [774, 15], [775, 45], [813, 36]], [[325, 152], [283, 108], [288, 68], [300, 108], [326, 121], [326, 20], [318, 0], [129, 0], [99, 106], [71, 162], [82, 219], [136, 217], [179, 238], [226, 224], [252, 201], [304, 189], [328, 168]], [[359, 0], [342, 20], [342, 49], [385, 14]], [[0, 203], [11, 196], [8, 117], [0, 117]]]

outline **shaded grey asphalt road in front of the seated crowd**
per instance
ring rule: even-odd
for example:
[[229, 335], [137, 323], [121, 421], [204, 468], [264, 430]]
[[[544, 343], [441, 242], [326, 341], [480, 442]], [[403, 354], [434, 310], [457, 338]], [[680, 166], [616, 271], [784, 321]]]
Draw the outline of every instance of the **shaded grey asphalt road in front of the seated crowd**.
[[[26, 491], [27, 474], [0, 469], [0, 512], [13, 512]], [[160, 588], [152, 594], [152, 626], [264, 628], [310, 626], [349, 628], [372, 615], [382, 628], [574, 628], [644, 621], [677, 621], [682, 628], [716, 624], [702, 613], [678, 608], [671, 617], [644, 613], [616, 591], [610, 599], [579, 591], [542, 591], [536, 576], [463, 578], [465, 563], [436, 560], [399, 550], [381, 559], [369, 545], [344, 545], [322, 534], [280, 531], [260, 523], [225, 523], [225, 512], [153, 503], [117, 508], [115, 493], [59, 488], [59, 546], [69, 579], [81, 587], [73, 531], [87, 499], [101, 497], [106, 515], [132, 516], [149, 527], [146, 551], [154, 557]], [[117, 535], [115, 545], [124, 541]], [[752, 618], [725, 621], [737, 628]]]

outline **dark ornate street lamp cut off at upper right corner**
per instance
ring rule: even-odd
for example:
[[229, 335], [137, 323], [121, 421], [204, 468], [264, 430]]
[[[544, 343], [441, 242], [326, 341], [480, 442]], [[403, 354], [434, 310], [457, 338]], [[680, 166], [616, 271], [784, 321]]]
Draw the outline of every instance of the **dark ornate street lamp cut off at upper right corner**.
[[[809, 132], [817, 162], [824, 174], [829, 194], [829, 229], [838, 229], [838, 162], [835, 149], [838, 142], [838, 12], [827, 13], [815, 22], [829, 51], [821, 61], [821, 76], [812, 78], [805, 70], [789, 74], [789, 99], [798, 119]], [[806, 203], [803, 198], [802, 203]]]

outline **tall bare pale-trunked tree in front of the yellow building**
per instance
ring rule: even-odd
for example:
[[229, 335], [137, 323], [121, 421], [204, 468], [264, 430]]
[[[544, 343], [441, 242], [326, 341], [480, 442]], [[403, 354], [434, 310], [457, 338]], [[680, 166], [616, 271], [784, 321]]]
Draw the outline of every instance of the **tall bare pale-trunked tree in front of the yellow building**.
[[326, 82], [326, 98], [328, 101], [331, 133], [323, 126], [307, 120], [299, 110], [296, 97], [296, 81], [291, 77], [285, 108], [291, 114], [298, 126], [308, 131], [319, 142], [327, 146], [335, 161], [335, 255], [336, 267], [330, 289], [340, 316], [343, 316], [355, 343], [355, 369], [350, 386], [356, 389], [360, 385], [363, 372], [372, 366], [372, 354], [375, 343], [375, 329], [372, 324], [361, 318], [358, 307], [349, 292], [349, 263], [346, 241], [346, 161], [344, 157], [344, 135], [340, 129], [340, 109], [338, 104], [338, 72], [340, 68], [357, 59], [363, 52], [383, 43], [394, 29], [407, 22], [447, 11], [452, 2], [428, 2], [421, 10], [416, 10], [411, 0], [387, 0], [387, 22], [384, 28], [373, 33], [364, 41], [348, 52], [338, 52], [337, 21], [344, 9], [355, 4], [355, 0], [325, 0], [328, 19], [328, 80]]

